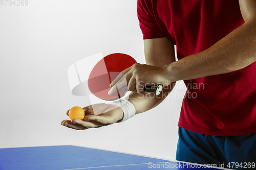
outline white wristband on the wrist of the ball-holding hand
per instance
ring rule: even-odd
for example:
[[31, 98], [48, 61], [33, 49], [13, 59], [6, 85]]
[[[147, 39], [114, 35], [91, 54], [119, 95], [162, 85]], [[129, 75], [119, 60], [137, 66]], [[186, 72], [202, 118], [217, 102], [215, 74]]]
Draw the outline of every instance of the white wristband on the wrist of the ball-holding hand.
[[123, 110], [123, 118], [119, 120], [117, 123], [124, 122], [125, 120], [133, 117], [136, 113], [134, 105], [125, 99], [110, 102], [109, 104], [118, 106]]

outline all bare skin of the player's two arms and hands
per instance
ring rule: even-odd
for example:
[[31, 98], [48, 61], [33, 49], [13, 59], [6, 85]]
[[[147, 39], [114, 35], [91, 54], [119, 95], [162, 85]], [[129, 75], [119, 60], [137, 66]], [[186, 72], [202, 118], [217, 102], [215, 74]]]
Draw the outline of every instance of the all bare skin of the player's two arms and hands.
[[[239, 4], [245, 21], [242, 26], [207, 50], [179, 61], [175, 62], [174, 45], [167, 38], [144, 40], [146, 64], [136, 63], [122, 71], [128, 83], [128, 89], [132, 91], [129, 101], [135, 106], [136, 114], [159, 105], [172, 91], [178, 80], [225, 74], [256, 61], [256, 1], [240, 0]], [[120, 78], [114, 80], [112, 86], [117, 85]], [[164, 89], [161, 93], [166, 95], [152, 98], [151, 94], [143, 92], [144, 86], [154, 84], [162, 84]], [[115, 93], [115, 87], [110, 93]], [[97, 107], [104, 110], [110, 106], [99, 104]], [[83, 109], [86, 113], [83, 120], [63, 120], [61, 125], [77, 130], [101, 127], [117, 122], [123, 114], [120, 108], [99, 115], [93, 115], [89, 107]]]

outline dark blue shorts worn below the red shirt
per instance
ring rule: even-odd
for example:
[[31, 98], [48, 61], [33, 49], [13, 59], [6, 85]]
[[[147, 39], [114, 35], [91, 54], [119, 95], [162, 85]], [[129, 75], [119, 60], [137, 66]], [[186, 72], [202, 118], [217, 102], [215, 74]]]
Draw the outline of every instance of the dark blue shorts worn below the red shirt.
[[176, 160], [230, 169], [256, 169], [256, 133], [220, 137], [179, 128]]

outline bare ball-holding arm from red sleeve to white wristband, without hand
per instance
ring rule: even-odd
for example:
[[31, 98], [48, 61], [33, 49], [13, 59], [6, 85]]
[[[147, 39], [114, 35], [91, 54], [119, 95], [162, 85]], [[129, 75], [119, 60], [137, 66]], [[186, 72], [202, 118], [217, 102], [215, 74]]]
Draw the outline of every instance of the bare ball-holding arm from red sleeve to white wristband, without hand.
[[[164, 66], [175, 62], [174, 44], [166, 37], [144, 40], [146, 64]], [[150, 110], [159, 105], [173, 90], [175, 82], [165, 87], [159, 96], [147, 94], [142, 96], [136, 92], [129, 95], [129, 101], [135, 106], [136, 114]], [[164, 95], [163, 95], [164, 94]]]

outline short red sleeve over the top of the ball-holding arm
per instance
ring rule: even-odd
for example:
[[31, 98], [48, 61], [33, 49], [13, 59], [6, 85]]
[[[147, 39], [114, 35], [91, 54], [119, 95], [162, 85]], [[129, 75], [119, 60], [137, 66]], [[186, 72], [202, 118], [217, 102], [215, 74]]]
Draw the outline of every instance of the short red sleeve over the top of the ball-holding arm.
[[165, 37], [148, 7], [152, 8], [151, 1], [138, 0], [137, 12], [143, 39]]

